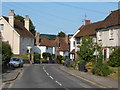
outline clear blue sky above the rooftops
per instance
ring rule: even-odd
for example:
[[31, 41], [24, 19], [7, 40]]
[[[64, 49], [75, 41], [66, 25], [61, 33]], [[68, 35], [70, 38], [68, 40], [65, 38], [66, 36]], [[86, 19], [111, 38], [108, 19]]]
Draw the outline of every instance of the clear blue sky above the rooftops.
[[60, 31], [74, 34], [84, 24], [105, 19], [117, 2], [2, 2], [2, 15], [8, 16], [10, 9], [15, 14], [29, 15], [40, 34], [57, 34]]

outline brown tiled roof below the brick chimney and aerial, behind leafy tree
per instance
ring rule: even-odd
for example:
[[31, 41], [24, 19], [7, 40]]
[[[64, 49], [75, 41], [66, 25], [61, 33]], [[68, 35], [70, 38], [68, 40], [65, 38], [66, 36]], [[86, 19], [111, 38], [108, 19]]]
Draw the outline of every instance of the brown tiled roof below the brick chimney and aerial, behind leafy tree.
[[102, 21], [95, 22], [95, 23], [90, 23], [87, 25], [82, 25], [79, 28], [79, 32], [75, 35], [75, 37], [83, 37], [83, 36], [91, 36], [96, 34], [96, 28], [100, 25]]

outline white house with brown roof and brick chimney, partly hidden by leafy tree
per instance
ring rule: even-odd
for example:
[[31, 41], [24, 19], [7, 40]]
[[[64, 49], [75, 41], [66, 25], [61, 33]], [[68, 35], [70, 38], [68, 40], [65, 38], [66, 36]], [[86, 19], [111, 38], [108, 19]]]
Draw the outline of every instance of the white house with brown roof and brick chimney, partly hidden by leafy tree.
[[[90, 23], [90, 20], [85, 20], [85, 25], [82, 25], [79, 28], [79, 32], [74, 36], [75, 38], [75, 52], [78, 51], [78, 45], [84, 36], [92, 36], [93, 41], [96, 42], [96, 28], [101, 24], [102, 21]], [[78, 58], [77, 54], [75, 53], [75, 58]]]

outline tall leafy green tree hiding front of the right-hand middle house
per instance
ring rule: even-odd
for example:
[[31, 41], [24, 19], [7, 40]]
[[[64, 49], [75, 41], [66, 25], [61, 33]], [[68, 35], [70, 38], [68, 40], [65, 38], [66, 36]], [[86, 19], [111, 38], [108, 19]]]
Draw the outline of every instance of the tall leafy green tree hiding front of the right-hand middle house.
[[80, 60], [90, 61], [94, 58], [93, 53], [95, 51], [95, 43], [93, 42], [92, 37], [82, 37], [78, 48], [79, 50], [77, 51], [77, 54]]

